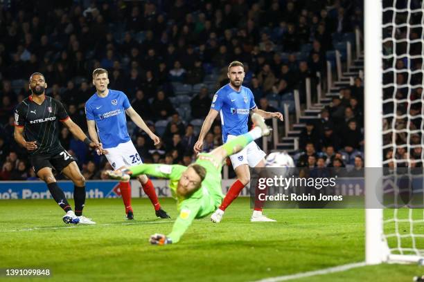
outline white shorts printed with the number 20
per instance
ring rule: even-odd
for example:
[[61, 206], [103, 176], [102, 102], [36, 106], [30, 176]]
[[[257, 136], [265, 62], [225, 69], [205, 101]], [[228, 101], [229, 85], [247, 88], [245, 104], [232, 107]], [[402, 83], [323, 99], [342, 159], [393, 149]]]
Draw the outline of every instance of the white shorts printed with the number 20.
[[132, 141], [118, 144], [114, 148], [105, 149], [108, 153], [105, 155], [107, 161], [112, 165], [113, 169], [121, 167], [130, 167], [136, 164], [142, 164], [141, 157], [132, 144]]

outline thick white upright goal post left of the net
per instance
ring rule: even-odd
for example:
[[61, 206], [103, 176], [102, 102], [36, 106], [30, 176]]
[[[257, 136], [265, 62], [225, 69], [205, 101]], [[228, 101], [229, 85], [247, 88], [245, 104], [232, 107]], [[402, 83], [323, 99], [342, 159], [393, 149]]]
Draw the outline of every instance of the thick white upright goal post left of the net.
[[[364, 140], [365, 167], [382, 168], [382, 1], [364, 1]], [[380, 177], [365, 169], [365, 207], [377, 202], [376, 187]], [[381, 186], [380, 186], [381, 187]], [[383, 210], [365, 210], [365, 262], [382, 263]]]

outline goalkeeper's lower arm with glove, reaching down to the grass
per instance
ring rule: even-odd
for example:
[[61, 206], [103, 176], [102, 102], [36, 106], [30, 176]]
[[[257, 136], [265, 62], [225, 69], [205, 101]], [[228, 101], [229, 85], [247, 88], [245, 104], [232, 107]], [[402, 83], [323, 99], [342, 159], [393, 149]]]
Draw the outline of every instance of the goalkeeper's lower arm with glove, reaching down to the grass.
[[[186, 202], [186, 203], [185, 203]], [[179, 212], [177, 220], [173, 225], [173, 230], [167, 236], [162, 234], [154, 234], [150, 236], [150, 243], [153, 245], [165, 245], [170, 243], [178, 243], [183, 234], [190, 227], [200, 210], [200, 203], [197, 200], [187, 199], [182, 202], [182, 208]]]

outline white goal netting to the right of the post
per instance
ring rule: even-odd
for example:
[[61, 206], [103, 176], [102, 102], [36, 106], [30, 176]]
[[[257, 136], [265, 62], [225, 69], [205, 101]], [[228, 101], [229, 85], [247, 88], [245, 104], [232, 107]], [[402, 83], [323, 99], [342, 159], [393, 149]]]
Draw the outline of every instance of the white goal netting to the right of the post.
[[[383, 0], [384, 236], [391, 254], [424, 255], [423, 0]], [[412, 200], [413, 199], [413, 200]], [[421, 207], [421, 208], [420, 208]]]

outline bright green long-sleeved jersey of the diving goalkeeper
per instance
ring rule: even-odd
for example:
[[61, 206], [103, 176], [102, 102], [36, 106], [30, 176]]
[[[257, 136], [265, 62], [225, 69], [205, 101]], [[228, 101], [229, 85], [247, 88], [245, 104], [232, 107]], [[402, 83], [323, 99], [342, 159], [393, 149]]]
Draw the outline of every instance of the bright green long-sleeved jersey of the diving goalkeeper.
[[221, 168], [222, 165], [208, 153], [201, 153], [196, 160], [206, 169], [206, 177], [202, 181], [202, 187], [195, 191], [190, 198], [177, 196], [177, 184], [181, 178], [182, 172], [187, 169], [179, 164], [139, 164], [130, 167], [132, 175], [147, 174], [170, 180], [169, 187], [173, 197], [177, 200], [177, 210], [179, 215], [175, 220], [173, 231], [168, 234], [173, 243], [177, 243], [181, 236], [186, 232], [195, 218], [204, 218], [208, 214], [215, 212], [221, 205]]

